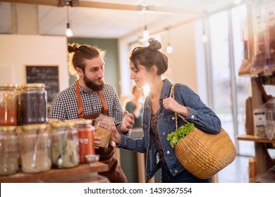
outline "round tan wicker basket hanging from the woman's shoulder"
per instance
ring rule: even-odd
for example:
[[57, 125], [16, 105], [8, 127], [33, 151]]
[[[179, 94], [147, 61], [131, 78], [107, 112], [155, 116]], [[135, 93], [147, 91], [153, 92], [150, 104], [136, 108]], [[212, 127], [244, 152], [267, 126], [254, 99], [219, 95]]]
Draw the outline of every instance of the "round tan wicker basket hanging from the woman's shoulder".
[[224, 129], [219, 134], [207, 134], [195, 129], [175, 146], [176, 156], [200, 179], [207, 179], [233, 162], [236, 148]]

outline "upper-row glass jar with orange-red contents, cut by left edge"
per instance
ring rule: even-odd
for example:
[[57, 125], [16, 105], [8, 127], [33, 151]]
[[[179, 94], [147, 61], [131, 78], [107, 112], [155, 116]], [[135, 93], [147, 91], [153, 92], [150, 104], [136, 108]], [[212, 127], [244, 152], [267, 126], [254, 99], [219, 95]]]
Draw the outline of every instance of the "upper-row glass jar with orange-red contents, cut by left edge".
[[0, 125], [17, 125], [16, 84], [0, 84]]

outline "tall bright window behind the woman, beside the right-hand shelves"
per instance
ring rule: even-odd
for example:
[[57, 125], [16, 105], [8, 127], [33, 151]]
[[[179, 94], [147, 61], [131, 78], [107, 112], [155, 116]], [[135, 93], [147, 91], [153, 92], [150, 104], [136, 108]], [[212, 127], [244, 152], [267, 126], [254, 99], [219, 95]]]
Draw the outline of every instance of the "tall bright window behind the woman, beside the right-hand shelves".
[[235, 142], [240, 155], [253, 156], [254, 144], [236, 141], [245, 134], [245, 100], [250, 96], [250, 77], [238, 76], [238, 68], [245, 58], [242, 27], [246, 6], [209, 16], [209, 72], [212, 109]]

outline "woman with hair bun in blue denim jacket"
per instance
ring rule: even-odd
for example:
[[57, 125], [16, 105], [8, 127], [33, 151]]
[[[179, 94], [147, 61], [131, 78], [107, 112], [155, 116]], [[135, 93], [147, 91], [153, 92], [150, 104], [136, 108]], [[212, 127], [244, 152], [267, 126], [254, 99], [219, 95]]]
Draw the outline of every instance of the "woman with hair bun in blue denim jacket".
[[[170, 96], [171, 82], [161, 80], [168, 69], [168, 58], [159, 51], [161, 44], [149, 39], [149, 46], [135, 47], [130, 55], [130, 78], [138, 87], [149, 84], [150, 93], [145, 99], [141, 139], [131, 139], [116, 132], [112, 139], [119, 148], [147, 153], [146, 179], [161, 168], [161, 182], [209, 182], [190, 174], [179, 163], [174, 148], [167, 141], [167, 134], [175, 131], [175, 113], [183, 115], [188, 122], [209, 134], [221, 130], [221, 121], [190, 88], [176, 84], [174, 98]], [[178, 119], [178, 127], [185, 122]]]

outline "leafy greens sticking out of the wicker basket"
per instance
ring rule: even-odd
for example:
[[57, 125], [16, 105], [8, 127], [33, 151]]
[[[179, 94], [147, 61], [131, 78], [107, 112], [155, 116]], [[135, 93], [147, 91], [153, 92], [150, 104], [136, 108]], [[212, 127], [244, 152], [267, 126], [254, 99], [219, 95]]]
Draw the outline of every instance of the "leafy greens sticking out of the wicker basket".
[[193, 131], [195, 128], [193, 123], [185, 124], [181, 127], [178, 127], [175, 132], [167, 135], [167, 140], [170, 141], [172, 148], [183, 139], [187, 134]]

